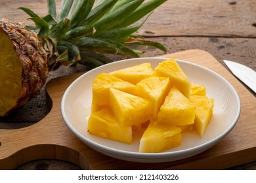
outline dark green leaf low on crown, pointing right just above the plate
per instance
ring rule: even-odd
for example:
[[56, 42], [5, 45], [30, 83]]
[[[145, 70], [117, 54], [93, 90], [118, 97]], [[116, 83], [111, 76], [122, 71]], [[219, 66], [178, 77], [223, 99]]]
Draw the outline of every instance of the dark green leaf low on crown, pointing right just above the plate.
[[139, 55], [120, 42], [110, 39], [102, 39], [96, 37], [83, 37], [75, 42], [80, 50], [89, 50], [93, 52], [101, 52], [108, 54], [119, 54], [121, 56], [132, 56], [138, 58]]

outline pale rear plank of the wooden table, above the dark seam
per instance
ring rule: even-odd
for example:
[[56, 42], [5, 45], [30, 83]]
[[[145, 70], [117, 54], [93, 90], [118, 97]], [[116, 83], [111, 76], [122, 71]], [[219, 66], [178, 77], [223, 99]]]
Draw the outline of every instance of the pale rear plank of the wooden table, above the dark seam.
[[[60, 7], [56, 0], [56, 9]], [[1, 0], [0, 17], [12, 21], [26, 20], [28, 15], [18, 7], [28, 7], [39, 16], [47, 14], [46, 1]], [[165, 2], [154, 10], [139, 35], [158, 36], [213, 36], [213, 37], [256, 37], [256, 1], [198, 0]]]

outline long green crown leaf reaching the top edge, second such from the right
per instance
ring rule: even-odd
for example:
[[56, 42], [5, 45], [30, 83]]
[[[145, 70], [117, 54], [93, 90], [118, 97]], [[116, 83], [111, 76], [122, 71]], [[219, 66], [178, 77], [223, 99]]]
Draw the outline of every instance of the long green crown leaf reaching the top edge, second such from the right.
[[121, 6], [116, 11], [106, 14], [98, 22], [95, 23], [96, 33], [95, 35], [100, 35], [113, 27], [116, 27], [120, 22], [122, 22], [131, 12], [133, 12], [143, 0], [135, 0], [131, 3]]

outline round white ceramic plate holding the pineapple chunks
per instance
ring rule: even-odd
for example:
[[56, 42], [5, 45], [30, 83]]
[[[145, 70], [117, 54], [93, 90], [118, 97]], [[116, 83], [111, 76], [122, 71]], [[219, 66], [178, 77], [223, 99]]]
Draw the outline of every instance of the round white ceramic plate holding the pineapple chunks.
[[62, 97], [61, 112], [64, 122], [70, 130], [85, 144], [102, 154], [117, 159], [136, 162], [166, 162], [184, 159], [215, 145], [236, 125], [240, 116], [240, 99], [238, 93], [222, 76], [200, 65], [179, 61], [184, 73], [191, 82], [202, 84], [207, 88], [207, 96], [215, 99], [213, 118], [201, 138], [196, 133], [182, 135], [182, 144], [161, 153], [139, 153], [139, 137], [133, 144], [102, 139], [87, 132], [87, 120], [91, 112], [91, 86], [96, 75], [109, 73], [140, 63], [149, 62], [152, 68], [165, 58], [136, 58], [116, 61], [97, 67], [77, 78]]

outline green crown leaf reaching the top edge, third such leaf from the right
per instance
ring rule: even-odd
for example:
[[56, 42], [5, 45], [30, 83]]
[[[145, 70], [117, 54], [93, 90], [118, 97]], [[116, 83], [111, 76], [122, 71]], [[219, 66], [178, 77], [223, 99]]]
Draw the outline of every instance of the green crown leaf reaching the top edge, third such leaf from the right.
[[100, 5], [96, 5], [96, 7], [93, 8], [93, 10], [91, 10], [91, 12], [89, 13], [87, 19], [84, 22], [81, 22], [80, 24], [81, 25], [95, 24], [95, 22], [97, 22], [100, 18], [102, 18], [102, 16], [104, 16], [106, 12], [108, 12], [108, 10], [110, 10], [110, 8], [112, 8], [117, 1], [118, 0], [108, 0], [106, 2], [103, 1], [102, 3], [100, 3]]

